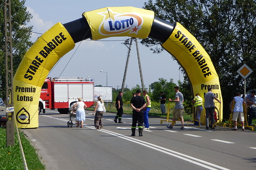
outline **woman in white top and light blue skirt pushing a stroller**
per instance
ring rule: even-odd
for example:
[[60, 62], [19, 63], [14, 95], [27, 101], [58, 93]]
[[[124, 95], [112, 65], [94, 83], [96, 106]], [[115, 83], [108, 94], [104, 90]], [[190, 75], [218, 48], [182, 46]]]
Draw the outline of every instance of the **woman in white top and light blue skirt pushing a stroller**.
[[78, 102], [73, 106], [73, 111], [75, 110], [76, 107], [76, 127], [79, 127], [79, 121], [81, 121], [81, 127], [83, 127], [83, 123], [85, 121], [85, 108], [87, 108], [86, 104], [82, 102], [82, 98], [78, 98]]

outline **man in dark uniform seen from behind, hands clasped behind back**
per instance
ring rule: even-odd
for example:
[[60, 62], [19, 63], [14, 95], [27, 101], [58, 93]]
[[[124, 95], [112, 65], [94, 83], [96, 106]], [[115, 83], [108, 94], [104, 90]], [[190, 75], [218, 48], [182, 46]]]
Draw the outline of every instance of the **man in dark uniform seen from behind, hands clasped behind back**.
[[138, 129], [139, 129], [139, 136], [142, 135], [143, 131], [143, 121], [144, 121], [144, 114], [143, 114], [143, 109], [146, 107], [146, 101], [145, 99], [140, 96], [141, 91], [137, 90], [136, 91], [136, 96], [132, 97], [130, 101], [130, 106], [133, 109], [132, 110], [132, 124], [131, 124], [131, 136], [135, 136], [135, 130], [136, 130], [136, 124], [138, 121]]

